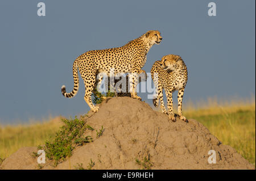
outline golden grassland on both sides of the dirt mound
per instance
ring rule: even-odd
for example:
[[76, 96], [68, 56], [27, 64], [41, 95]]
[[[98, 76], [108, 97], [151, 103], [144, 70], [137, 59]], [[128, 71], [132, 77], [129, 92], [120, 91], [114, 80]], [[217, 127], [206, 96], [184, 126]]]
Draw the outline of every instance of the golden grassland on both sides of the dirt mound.
[[[200, 105], [200, 106], [198, 106]], [[230, 145], [255, 166], [255, 98], [223, 102], [209, 99], [183, 109], [188, 119], [203, 123], [224, 145]], [[60, 117], [30, 124], [0, 125], [0, 163], [24, 146], [43, 145], [59, 130]]]

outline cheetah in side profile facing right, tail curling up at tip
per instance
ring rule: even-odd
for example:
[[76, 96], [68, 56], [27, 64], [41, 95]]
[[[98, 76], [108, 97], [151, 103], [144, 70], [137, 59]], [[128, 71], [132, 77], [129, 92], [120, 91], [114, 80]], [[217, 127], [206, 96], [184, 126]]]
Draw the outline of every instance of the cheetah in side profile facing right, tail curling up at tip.
[[[146, 62], [148, 50], [154, 44], [159, 44], [162, 40], [159, 31], [151, 30], [141, 37], [134, 39], [123, 45], [123, 47], [110, 48], [104, 50], [90, 50], [77, 57], [73, 63], [74, 87], [72, 92], [67, 93], [65, 86], [61, 87], [61, 92], [66, 98], [72, 98], [79, 89], [79, 76], [77, 68], [85, 84], [84, 100], [93, 112], [97, 112], [99, 107], [92, 103], [92, 91], [96, 83], [96, 71], [107, 73], [114, 70], [117, 73], [132, 73], [130, 83], [132, 85], [131, 97], [141, 98], [137, 95], [136, 86], [138, 84], [138, 73]], [[100, 78], [100, 83], [103, 76]]]

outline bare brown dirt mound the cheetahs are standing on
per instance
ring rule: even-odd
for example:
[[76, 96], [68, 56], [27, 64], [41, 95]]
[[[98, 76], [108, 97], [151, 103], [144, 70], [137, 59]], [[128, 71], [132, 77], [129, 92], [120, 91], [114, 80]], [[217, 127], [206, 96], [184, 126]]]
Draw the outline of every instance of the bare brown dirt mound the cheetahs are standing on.
[[[232, 147], [222, 145], [196, 120], [168, 121], [139, 100], [117, 97], [100, 104], [86, 120], [93, 128], [104, 127], [102, 136], [89, 131], [93, 142], [78, 146], [73, 155], [56, 167], [43, 169], [255, 169]], [[36, 148], [22, 148], [2, 163], [2, 169], [37, 169]], [[209, 150], [216, 163], [209, 164]]]

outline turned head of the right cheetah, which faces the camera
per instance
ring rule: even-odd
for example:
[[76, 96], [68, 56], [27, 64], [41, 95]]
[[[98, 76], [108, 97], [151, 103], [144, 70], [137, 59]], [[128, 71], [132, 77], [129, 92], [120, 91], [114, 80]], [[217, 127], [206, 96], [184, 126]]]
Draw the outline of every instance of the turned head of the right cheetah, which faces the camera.
[[179, 61], [182, 61], [181, 57], [175, 54], [168, 54], [162, 57], [162, 68], [164, 70], [175, 71], [179, 68]]

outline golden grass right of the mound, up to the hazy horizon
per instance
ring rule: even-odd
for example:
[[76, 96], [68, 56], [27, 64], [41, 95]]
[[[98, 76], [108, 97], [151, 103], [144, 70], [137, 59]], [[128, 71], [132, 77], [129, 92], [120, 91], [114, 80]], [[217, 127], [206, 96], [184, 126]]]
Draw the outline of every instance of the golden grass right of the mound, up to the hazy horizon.
[[[193, 105], [193, 104], [192, 104]], [[215, 99], [202, 103], [204, 107], [187, 106], [188, 119], [204, 124], [224, 145], [230, 145], [255, 165], [255, 97], [223, 102]], [[199, 104], [200, 105], [200, 104]]]

